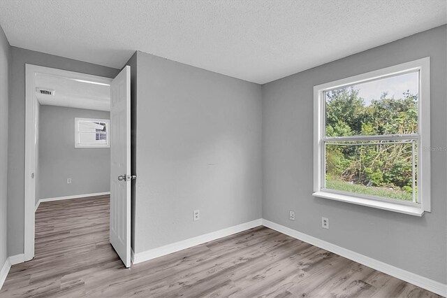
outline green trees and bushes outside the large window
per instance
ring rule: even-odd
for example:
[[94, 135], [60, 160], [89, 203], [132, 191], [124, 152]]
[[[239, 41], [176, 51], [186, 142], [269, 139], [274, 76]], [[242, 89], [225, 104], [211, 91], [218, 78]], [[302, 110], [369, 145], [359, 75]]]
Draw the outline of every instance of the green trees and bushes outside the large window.
[[[369, 106], [354, 88], [326, 92], [326, 135], [415, 134], [418, 129], [418, 97], [404, 92], [402, 98], [381, 98]], [[413, 145], [380, 141], [326, 144], [326, 175], [332, 183], [382, 187], [393, 192], [412, 192]], [[363, 142], [365, 143], [365, 142]], [[417, 144], [415, 144], [416, 150]], [[416, 150], [417, 152], [417, 150]], [[417, 158], [417, 157], [416, 157]], [[417, 166], [417, 163], [416, 163]], [[340, 185], [337, 184], [336, 185]], [[328, 187], [328, 186], [327, 186]], [[352, 188], [352, 187], [351, 187]], [[364, 193], [364, 192], [362, 192]], [[402, 196], [394, 196], [393, 198]], [[405, 197], [405, 199], [408, 199]]]

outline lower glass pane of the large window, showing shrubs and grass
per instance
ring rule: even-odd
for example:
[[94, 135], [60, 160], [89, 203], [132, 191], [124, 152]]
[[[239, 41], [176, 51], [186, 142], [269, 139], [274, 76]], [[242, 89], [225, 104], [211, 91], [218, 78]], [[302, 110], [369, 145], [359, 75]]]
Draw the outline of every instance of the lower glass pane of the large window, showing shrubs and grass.
[[329, 190], [413, 201], [414, 177], [417, 197], [416, 141], [326, 142], [325, 167]]

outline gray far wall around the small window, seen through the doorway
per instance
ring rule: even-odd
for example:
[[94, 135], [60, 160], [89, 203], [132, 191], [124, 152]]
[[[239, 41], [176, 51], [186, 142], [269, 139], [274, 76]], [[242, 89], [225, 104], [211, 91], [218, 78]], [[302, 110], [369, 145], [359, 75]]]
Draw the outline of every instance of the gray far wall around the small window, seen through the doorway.
[[[41, 106], [38, 146], [41, 199], [110, 192], [110, 148], [75, 148], [75, 118], [110, 120], [110, 113]], [[72, 179], [71, 184], [67, 184], [67, 178]]]

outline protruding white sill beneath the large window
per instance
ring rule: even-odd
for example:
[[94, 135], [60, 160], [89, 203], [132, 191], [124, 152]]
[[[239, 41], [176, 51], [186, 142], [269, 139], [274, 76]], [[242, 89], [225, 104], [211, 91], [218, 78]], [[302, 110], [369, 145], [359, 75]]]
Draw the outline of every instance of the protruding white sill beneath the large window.
[[414, 215], [421, 217], [424, 214], [424, 210], [422, 208], [418, 208], [415, 206], [406, 206], [401, 204], [395, 204], [386, 201], [374, 201], [372, 199], [362, 199], [358, 197], [351, 197], [344, 194], [334, 194], [332, 192], [314, 192], [312, 194], [314, 197], [321, 197], [324, 199], [332, 199], [335, 201], [344, 201], [346, 203], [368, 206], [372, 208], [378, 208], [387, 211], [393, 211], [397, 213], [404, 213], [408, 215]]

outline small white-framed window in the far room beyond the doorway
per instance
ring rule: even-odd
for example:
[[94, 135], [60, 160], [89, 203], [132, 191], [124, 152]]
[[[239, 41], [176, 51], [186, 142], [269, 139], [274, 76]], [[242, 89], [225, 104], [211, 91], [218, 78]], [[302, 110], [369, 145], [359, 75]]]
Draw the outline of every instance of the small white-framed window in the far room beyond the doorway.
[[110, 148], [107, 119], [75, 118], [75, 148]]

